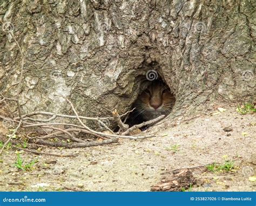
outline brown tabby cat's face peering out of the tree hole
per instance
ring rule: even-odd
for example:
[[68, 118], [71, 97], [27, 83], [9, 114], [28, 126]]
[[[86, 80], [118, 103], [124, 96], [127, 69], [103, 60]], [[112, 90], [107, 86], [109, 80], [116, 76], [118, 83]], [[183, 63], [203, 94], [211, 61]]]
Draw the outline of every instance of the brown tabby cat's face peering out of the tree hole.
[[175, 99], [169, 88], [161, 81], [153, 81], [139, 95], [134, 106], [145, 121], [167, 115], [171, 112]]

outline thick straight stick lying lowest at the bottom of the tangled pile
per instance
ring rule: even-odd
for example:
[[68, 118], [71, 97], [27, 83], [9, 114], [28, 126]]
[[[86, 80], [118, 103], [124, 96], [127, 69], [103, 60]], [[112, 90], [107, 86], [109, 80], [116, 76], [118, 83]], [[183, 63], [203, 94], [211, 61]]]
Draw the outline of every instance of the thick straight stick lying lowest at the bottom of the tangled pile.
[[66, 147], [66, 148], [77, 148], [77, 147], [93, 147], [93, 146], [99, 146], [99, 145], [106, 145], [110, 143], [116, 143], [118, 142], [117, 138], [107, 139], [103, 140], [101, 142], [99, 141], [93, 141], [93, 142], [50, 142], [47, 140], [38, 139], [35, 141], [35, 143], [39, 145], [48, 145], [51, 147]]

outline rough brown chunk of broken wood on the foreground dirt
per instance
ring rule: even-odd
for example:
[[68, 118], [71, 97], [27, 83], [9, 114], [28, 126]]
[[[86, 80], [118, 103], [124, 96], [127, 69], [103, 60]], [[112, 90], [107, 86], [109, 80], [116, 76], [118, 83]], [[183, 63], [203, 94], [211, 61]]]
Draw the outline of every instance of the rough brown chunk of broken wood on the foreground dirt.
[[151, 187], [151, 191], [181, 191], [196, 184], [191, 170], [180, 169], [178, 173], [171, 173], [169, 177], [164, 177], [160, 183]]

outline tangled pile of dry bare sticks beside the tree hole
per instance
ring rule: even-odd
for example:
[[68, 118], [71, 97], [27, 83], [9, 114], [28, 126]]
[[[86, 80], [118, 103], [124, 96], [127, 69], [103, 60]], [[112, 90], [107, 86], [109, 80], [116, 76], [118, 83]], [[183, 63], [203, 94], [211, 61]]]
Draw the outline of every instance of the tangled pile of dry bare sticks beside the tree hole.
[[[63, 96], [62, 96], [63, 97]], [[27, 135], [28, 139], [31, 140], [33, 143], [37, 143], [39, 145], [48, 145], [54, 147], [66, 147], [66, 148], [76, 148], [76, 147], [90, 147], [90, 146], [98, 146], [98, 145], [105, 145], [109, 143], [114, 143], [118, 141], [118, 138], [125, 138], [125, 139], [145, 139], [145, 138], [152, 138], [155, 135], [142, 135], [142, 136], [131, 136], [130, 133], [137, 128], [143, 127], [145, 125], [150, 125], [155, 123], [164, 118], [164, 115], [159, 116], [156, 119], [140, 123], [139, 125], [134, 125], [132, 127], [128, 127], [120, 117], [127, 115], [129, 112], [126, 112], [123, 115], [119, 115], [117, 111], [113, 111], [113, 117], [109, 118], [90, 118], [85, 116], [79, 116], [75, 107], [73, 106], [72, 102], [66, 99], [72, 107], [73, 112], [75, 113], [74, 116], [72, 115], [65, 115], [65, 114], [55, 114], [51, 112], [32, 112], [28, 114], [24, 114], [21, 116], [17, 116], [16, 118], [6, 118], [5, 116], [0, 116], [4, 121], [12, 121], [18, 123], [18, 126], [14, 130], [14, 132], [10, 135], [8, 141], [5, 142], [4, 147], [7, 143], [12, 139], [12, 137], [16, 134], [19, 127], [23, 128], [31, 128], [31, 127], [40, 127], [42, 129], [48, 129], [50, 132], [46, 132], [47, 134], [44, 136], [33, 136], [30, 137]], [[4, 100], [14, 100], [18, 101], [17, 99], [10, 99], [5, 98], [2, 95], [2, 99], [0, 103]], [[41, 115], [46, 116], [45, 119], [35, 119], [32, 116]], [[73, 123], [60, 123], [60, 122], [52, 122], [56, 120], [56, 118], [69, 118], [69, 119], [77, 119], [79, 121], [79, 125]], [[98, 132], [90, 127], [86, 126], [82, 120], [93, 120], [99, 122], [107, 132]], [[119, 125], [120, 129], [119, 132], [114, 133], [102, 120], [113, 120], [116, 121], [117, 125]], [[65, 128], [63, 128], [65, 127]], [[82, 136], [81, 134], [85, 134]], [[78, 138], [78, 136], [82, 136], [82, 138]], [[96, 138], [97, 140], [92, 140], [92, 138]], [[51, 139], [55, 139], [57, 141], [51, 141]], [[67, 140], [66, 142], [62, 141], [63, 139]], [[99, 141], [101, 139], [102, 141]], [[72, 142], [70, 142], [71, 140]], [[3, 148], [4, 148], [3, 147]], [[3, 148], [0, 153], [2, 153]]]

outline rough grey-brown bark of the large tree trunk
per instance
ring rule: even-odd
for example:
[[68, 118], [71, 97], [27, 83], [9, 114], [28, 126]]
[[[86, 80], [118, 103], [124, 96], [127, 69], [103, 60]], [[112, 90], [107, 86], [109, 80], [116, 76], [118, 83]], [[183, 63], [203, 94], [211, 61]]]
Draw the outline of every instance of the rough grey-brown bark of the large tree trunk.
[[[23, 112], [120, 114], [156, 70], [176, 95], [173, 115], [254, 95], [255, 1], [2, 0], [25, 54]], [[16, 95], [21, 56], [0, 31], [0, 92]], [[15, 108], [12, 108], [15, 110]]]

